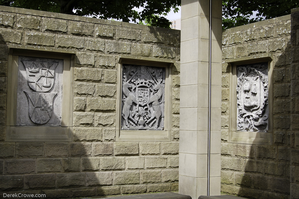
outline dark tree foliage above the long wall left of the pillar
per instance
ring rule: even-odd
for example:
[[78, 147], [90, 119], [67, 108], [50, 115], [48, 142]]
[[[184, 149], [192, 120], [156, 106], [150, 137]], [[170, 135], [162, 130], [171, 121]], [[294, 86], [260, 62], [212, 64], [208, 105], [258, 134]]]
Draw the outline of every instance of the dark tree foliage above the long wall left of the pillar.
[[[170, 22], [163, 16], [171, 8], [178, 11], [180, 0], [0, 0], [0, 5], [33, 10], [65, 13], [100, 19], [118, 19], [123, 22], [151, 21], [153, 26], [169, 28]], [[141, 12], [134, 7], [143, 7]]]

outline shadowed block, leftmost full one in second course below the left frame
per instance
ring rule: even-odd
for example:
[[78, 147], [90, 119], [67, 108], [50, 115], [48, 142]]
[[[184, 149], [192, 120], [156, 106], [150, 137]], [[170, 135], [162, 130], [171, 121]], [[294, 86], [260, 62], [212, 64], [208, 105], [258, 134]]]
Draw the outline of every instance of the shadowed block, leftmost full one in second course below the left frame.
[[36, 159], [4, 159], [4, 174], [34, 174]]

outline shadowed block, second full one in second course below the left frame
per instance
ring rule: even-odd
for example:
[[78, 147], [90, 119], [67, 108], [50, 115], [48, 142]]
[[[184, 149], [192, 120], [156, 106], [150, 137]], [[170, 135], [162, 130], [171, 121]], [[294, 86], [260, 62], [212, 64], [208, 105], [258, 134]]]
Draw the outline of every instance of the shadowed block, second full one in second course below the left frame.
[[38, 158], [36, 161], [37, 173], [52, 173], [62, 170], [61, 158]]

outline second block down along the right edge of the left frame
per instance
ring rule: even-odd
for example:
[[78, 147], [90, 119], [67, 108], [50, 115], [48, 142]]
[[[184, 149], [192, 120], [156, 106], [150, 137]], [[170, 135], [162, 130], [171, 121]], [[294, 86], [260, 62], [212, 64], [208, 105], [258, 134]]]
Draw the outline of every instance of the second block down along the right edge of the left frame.
[[74, 80], [85, 82], [101, 82], [103, 69], [75, 68]]

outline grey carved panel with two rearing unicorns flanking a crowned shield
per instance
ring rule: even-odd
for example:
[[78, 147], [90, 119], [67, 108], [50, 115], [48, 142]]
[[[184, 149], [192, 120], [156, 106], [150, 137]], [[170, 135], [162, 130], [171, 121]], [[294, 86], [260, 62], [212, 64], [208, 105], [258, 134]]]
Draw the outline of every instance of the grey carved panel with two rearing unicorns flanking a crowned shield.
[[122, 130], [164, 129], [165, 68], [123, 64]]

